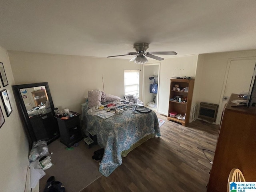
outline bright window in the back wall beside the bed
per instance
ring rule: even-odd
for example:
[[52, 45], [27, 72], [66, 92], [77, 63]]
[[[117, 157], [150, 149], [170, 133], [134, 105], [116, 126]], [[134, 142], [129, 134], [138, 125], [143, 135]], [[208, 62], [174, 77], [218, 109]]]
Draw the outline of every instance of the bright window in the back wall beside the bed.
[[139, 97], [140, 72], [138, 70], [124, 70], [124, 95], [132, 94]]

